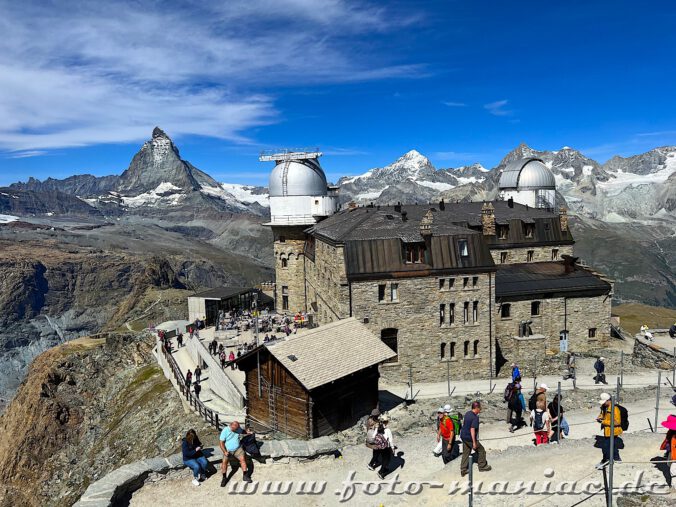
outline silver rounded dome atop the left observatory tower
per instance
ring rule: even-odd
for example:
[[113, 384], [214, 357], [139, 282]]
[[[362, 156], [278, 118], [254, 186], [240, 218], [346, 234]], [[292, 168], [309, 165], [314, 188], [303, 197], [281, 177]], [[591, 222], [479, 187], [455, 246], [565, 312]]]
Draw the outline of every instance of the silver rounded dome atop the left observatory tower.
[[268, 188], [270, 197], [327, 195], [326, 176], [314, 159], [278, 162], [270, 173]]

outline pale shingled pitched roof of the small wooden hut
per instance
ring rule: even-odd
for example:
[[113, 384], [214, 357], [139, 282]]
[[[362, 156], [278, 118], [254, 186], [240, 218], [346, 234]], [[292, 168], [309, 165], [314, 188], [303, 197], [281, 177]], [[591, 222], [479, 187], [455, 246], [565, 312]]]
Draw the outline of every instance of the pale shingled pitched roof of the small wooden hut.
[[267, 349], [308, 390], [396, 355], [354, 317], [267, 345]]

